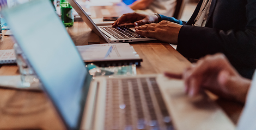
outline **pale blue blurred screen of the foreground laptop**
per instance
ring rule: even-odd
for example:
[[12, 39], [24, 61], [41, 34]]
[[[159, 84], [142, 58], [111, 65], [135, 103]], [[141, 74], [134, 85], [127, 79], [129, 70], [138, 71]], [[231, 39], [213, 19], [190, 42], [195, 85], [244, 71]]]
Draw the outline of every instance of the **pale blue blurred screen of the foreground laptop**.
[[78, 128], [87, 69], [50, 1], [31, 1], [2, 14], [65, 125]]

